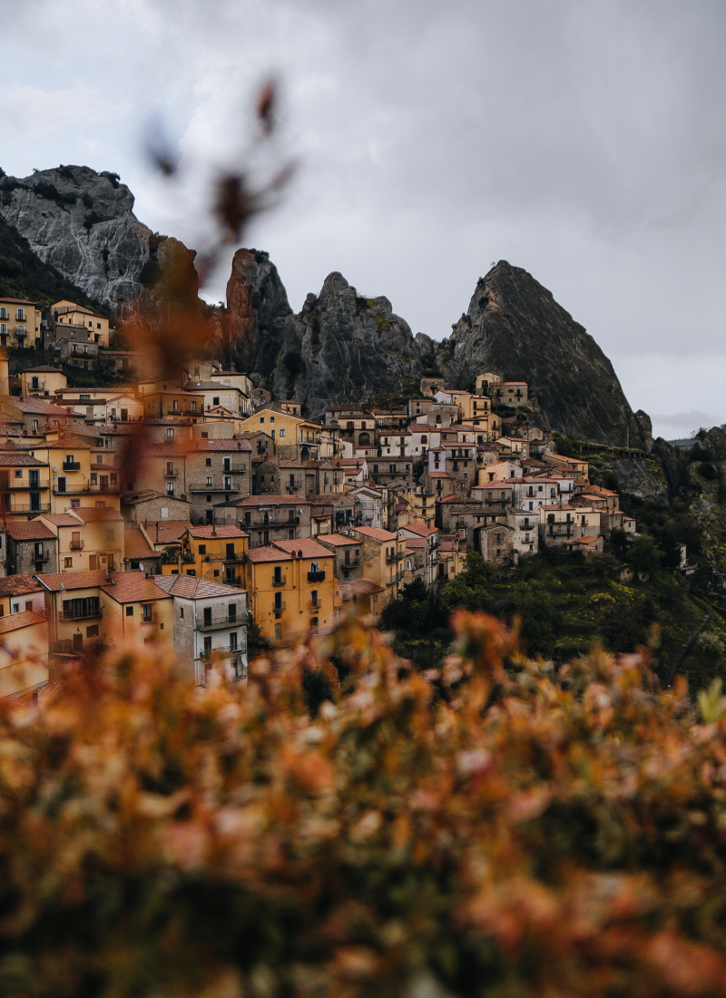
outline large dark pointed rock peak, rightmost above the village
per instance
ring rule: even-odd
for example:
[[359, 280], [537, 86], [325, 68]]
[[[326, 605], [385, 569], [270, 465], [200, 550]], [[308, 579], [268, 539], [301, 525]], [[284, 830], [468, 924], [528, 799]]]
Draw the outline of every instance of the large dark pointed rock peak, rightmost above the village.
[[567, 435], [624, 446], [629, 430], [631, 446], [652, 445], [592, 336], [531, 274], [506, 260], [478, 281], [436, 363], [459, 388], [472, 388], [480, 371], [526, 381], [550, 426]]

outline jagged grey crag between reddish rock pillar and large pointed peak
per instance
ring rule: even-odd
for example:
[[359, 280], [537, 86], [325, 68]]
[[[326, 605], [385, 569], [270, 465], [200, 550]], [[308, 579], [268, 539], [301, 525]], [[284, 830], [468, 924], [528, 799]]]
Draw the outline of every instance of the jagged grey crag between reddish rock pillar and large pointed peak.
[[327, 405], [415, 390], [430, 345], [426, 336], [413, 338], [387, 298], [363, 298], [334, 272], [287, 319], [273, 391], [321, 419]]

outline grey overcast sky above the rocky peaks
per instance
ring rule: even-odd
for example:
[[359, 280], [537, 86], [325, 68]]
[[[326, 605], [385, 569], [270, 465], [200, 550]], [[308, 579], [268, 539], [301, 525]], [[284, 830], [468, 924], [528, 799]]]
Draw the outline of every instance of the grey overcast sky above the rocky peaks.
[[[440, 339], [505, 258], [657, 433], [726, 421], [723, 0], [0, 0], [0, 34], [8, 174], [114, 171], [141, 221], [201, 249], [203, 182], [249, 159], [274, 75], [281, 128], [255, 164], [299, 170], [246, 242], [294, 308], [341, 270]], [[182, 156], [172, 188], [150, 122]]]

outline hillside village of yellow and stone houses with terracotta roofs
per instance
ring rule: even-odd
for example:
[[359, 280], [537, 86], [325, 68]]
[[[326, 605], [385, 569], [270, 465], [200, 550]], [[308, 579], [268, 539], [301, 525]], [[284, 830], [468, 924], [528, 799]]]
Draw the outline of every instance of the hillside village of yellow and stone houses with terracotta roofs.
[[[477, 373], [473, 392], [422, 378], [319, 423], [214, 361], [142, 371], [111, 332], [73, 301], [0, 300], [2, 346], [57, 356], [12, 379], [0, 357], [0, 631], [6, 664], [40, 656], [35, 690], [118, 635], [173, 647], [200, 687], [213, 656], [242, 680], [252, 634], [375, 619], [405, 584], [440, 590], [469, 552], [504, 568], [635, 532], [535, 425], [536, 386], [505, 372]], [[69, 386], [101, 363], [115, 387]], [[27, 689], [10, 673], [1, 696]]]

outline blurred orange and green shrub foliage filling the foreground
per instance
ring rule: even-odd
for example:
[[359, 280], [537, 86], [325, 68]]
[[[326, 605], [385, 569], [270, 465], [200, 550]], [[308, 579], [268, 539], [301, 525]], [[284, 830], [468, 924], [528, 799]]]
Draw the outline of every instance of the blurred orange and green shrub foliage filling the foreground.
[[150, 648], [0, 705], [0, 993], [726, 992], [720, 688], [452, 626], [440, 671], [350, 624], [242, 689]]

